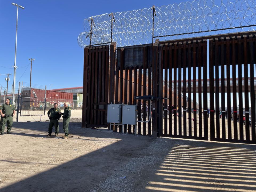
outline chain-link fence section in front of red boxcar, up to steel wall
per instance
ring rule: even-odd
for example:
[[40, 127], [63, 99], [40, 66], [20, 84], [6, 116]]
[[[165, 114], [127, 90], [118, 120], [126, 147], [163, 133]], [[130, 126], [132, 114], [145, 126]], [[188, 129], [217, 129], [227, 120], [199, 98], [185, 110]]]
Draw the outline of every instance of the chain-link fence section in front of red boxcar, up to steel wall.
[[[18, 121], [48, 121], [47, 112], [53, 107], [54, 103], [57, 103], [58, 108], [63, 112], [65, 102], [72, 109], [71, 119], [82, 118], [81, 96], [77, 100], [73, 100], [66, 97], [61, 98], [61, 93], [57, 95], [52, 93], [51, 90], [46, 89], [46, 86], [33, 84], [30, 87], [28, 83], [22, 83]], [[53, 96], [55, 98], [52, 98]]]

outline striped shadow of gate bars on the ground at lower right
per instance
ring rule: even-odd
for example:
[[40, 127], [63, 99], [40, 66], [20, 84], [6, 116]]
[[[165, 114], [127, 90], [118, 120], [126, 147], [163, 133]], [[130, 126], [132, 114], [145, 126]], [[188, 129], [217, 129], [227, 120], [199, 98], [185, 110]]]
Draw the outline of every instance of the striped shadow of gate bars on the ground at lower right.
[[256, 150], [251, 146], [192, 143], [172, 147], [146, 191], [256, 191]]

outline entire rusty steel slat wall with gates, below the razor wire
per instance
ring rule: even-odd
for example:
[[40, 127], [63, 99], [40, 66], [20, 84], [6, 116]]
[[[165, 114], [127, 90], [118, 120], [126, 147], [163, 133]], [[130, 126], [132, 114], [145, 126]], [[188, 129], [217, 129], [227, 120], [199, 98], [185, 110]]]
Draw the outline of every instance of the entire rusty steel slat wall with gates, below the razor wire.
[[[107, 127], [107, 103], [123, 103], [137, 105], [138, 120], [146, 121], [152, 113], [152, 121], [137, 124], [137, 134], [256, 143], [255, 41], [255, 32], [245, 32], [86, 47], [82, 126]], [[159, 98], [152, 111], [148, 102], [134, 99], [142, 95]], [[220, 121], [220, 111], [226, 110], [227, 119]], [[121, 132], [121, 127], [114, 126], [114, 131]], [[126, 131], [134, 133], [130, 125]]]

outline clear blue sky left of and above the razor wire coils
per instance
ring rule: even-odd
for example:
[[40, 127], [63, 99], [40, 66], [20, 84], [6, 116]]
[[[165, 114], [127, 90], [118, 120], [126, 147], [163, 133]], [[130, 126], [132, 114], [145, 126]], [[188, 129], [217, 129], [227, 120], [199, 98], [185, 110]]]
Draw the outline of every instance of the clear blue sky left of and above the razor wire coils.
[[[17, 8], [18, 13], [16, 81], [47, 86], [47, 89], [77, 87], [83, 83], [83, 49], [77, 43], [84, 31], [83, 21], [90, 16], [169, 5], [171, 1], [0, 1], [0, 74], [11, 73], [8, 90], [13, 84]], [[186, 1], [175, 1], [175, 3]], [[7, 68], [4, 68], [7, 67]], [[0, 86], [6, 87], [5, 75]], [[9, 92], [8, 91], [8, 92]]]

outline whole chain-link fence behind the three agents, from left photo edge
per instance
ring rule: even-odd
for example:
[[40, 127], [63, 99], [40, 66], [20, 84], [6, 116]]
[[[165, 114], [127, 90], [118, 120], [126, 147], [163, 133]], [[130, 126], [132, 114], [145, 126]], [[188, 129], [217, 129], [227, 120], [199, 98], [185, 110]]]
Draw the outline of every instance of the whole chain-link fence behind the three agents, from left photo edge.
[[0, 105], [5, 103], [6, 98], [9, 98], [10, 105], [15, 107], [16, 113], [13, 116], [13, 122], [48, 121], [47, 112], [54, 103], [57, 103], [58, 108], [63, 112], [65, 102], [72, 110], [71, 121], [82, 121], [82, 94], [77, 94], [77, 99], [47, 98], [46, 86], [32, 84], [30, 87], [29, 83], [24, 82], [22, 82], [20, 91], [17, 89], [14, 95], [11, 90], [6, 93], [4, 87], [1, 90], [3, 91], [0, 92]]

